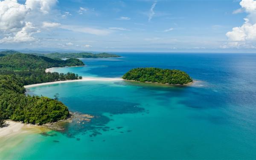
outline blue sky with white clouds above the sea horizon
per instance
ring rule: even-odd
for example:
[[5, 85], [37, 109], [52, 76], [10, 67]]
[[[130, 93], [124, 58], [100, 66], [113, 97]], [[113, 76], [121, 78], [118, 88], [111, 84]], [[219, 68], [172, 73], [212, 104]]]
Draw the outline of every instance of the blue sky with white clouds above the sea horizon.
[[256, 52], [256, 0], [0, 0], [0, 49]]

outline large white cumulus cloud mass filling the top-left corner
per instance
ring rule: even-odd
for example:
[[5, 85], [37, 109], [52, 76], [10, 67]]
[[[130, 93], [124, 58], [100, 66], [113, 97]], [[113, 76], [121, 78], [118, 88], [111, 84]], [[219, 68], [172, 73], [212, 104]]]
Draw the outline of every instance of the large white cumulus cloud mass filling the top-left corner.
[[57, 0], [26, 0], [25, 4], [20, 4], [17, 0], [0, 1], [0, 34], [7, 35], [0, 39], [0, 43], [35, 41], [32, 35], [40, 32], [40, 27], [32, 23], [37, 18], [29, 19], [29, 15], [47, 15], [56, 2]]

